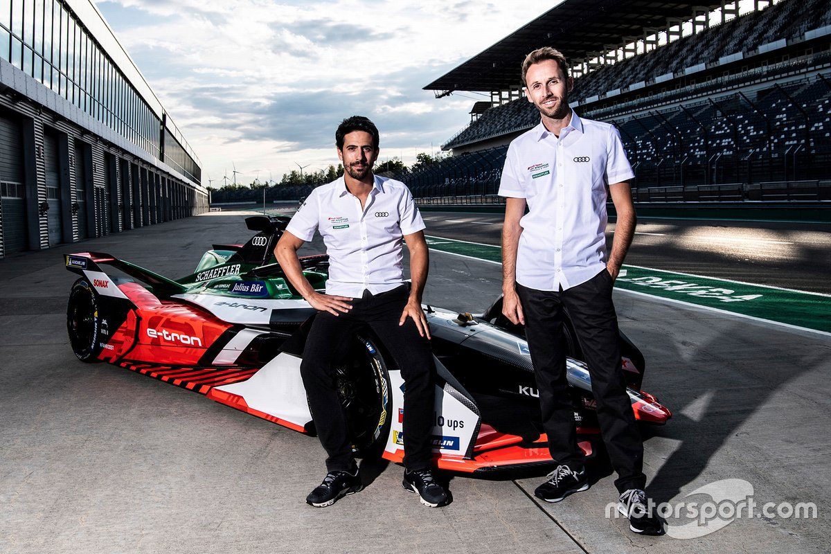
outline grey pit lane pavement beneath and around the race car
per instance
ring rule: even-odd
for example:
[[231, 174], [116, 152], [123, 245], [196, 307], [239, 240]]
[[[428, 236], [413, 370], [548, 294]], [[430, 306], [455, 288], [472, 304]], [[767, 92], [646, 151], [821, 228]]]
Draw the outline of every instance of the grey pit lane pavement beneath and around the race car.
[[[214, 213], [0, 260], [0, 552], [831, 551], [831, 339], [815, 332], [616, 292], [644, 389], [675, 414], [645, 442], [647, 492], [677, 512], [671, 537], [606, 517], [602, 457], [592, 488], [562, 503], [533, 497], [540, 474], [448, 475], [454, 502], [430, 509], [401, 467], [364, 460], [365, 490], [312, 508], [317, 439], [72, 355], [62, 253], [179, 277], [211, 243], [247, 238], [241, 215]], [[496, 264], [432, 252], [425, 302], [484, 311], [499, 280]], [[762, 517], [736, 517], [749, 499]], [[722, 518], [696, 525], [692, 503]], [[798, 503], [817, 517], [787, 517]]]

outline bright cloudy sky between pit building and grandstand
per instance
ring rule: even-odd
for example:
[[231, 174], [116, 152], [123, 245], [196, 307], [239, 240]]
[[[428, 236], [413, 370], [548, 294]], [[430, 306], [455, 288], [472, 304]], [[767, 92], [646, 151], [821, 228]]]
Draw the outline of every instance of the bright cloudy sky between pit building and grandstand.
[[[337, 165], [350, 115], [411, 165], [470, 123], [471, 92], [422, 88], [555, 4], [534, 0], [95, 0], [219, 188]], [[518, 68], [519, 73], [519, 68]]]

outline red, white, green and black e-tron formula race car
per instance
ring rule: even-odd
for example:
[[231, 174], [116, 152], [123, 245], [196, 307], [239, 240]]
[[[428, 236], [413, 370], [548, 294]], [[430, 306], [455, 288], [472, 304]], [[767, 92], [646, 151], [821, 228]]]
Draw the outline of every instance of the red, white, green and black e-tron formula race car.
[[[244, 245], [214, 245], [196, 270], [172, 280], [100, 252], [66, 254], [81, 276], [66, 327], [85, 362], [106, 361], [193, 390], [289, 429], [314, 434], [300, 359], [316, 311], [297, 294], [273, 249], [288, 218], [246, 219]], [[303, 272], [326, 287], [328, 257], [303, 257]], [[439, 468], [488, 472], [552, 463], [539, 424], [538, 391], [523, 329], [501, 316], [501, 298], [471, 316], [424, 306], [437, 372], [433, 449]], [[580, 447], [598, 433], [591, 380], [566, 321], [568, 383]], [[638, 421], [671, 412], [640, 390], [644, 360], [622, 336], [628, 395]], [[376, 336], [358, 332], [337, 368], [342, 407], [358, 457], [401, 462], [406, 444], [404, 381]]]

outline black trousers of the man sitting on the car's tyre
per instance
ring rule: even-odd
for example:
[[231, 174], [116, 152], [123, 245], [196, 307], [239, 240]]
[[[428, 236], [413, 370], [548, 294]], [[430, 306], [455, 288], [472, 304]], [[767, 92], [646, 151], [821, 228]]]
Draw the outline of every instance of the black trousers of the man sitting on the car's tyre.
[[328, 311], [318, 311], [312, 322], [300, 373], [317, 436], [328, 455], [327, 471], [354, 467], [352, 443], [337, 396], [334, 370], [342, 362], [352, 334], [366, 328], [380, 339], [405, 382], [404, 465], [415, 470], [428, 468], [432, 463], [430, 434], [435, 403], [435, 365], [430, 341], [419, 335], [412, 319], [408, 317], [403, 326], [398, 325], [408, 297], [406, 285], [377, 295], [365, 291], [363, 297], [350, 302], [352, 310], [348, 313], [333, 316]]

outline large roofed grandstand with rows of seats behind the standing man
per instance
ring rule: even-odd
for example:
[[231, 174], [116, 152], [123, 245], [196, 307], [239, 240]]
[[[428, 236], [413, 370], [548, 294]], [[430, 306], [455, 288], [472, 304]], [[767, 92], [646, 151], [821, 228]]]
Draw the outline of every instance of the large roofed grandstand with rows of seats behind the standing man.
[[421, 203], [499, 201], [509, 142], [539, 122], [519, 66], [553, 46], [574, 109], [620, 130], [636, 201], [831, 200], [829, 1], [752, 3], [566, 0], [425, 86], [490, 107], [399, 178]]

